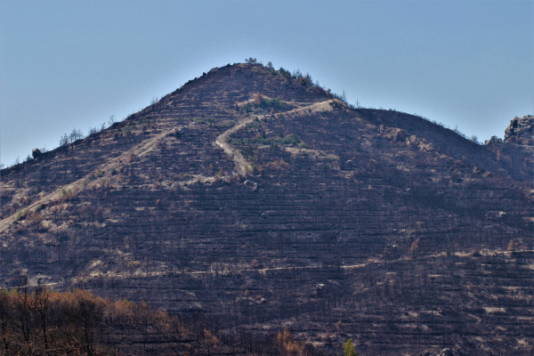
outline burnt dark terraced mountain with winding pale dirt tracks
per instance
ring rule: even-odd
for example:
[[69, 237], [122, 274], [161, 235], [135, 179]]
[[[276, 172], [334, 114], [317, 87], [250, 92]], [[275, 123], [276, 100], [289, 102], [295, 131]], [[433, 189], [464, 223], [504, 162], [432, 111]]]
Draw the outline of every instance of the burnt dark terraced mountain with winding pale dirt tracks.
[[530, 355], [533, 121], [481, 145], [300, 73], [211, 69], [2, 170], [0, 282], [209, 315], [249, 351], [288, 328], [326, 354]]

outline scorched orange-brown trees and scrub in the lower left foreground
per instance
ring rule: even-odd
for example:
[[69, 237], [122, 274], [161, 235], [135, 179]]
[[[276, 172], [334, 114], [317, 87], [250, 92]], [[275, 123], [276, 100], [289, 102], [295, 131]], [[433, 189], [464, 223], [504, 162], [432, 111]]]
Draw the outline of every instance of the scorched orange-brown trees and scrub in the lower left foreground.
[[[146, 352], [169, 354], [172, 347], [172, 353], [204, 355], [239, 349], [237, 340], [222, 342], [210, 324], [203, 316], [180, 318], [144, 302], [114, 302], [80, 289], [0, 290], [0, 353], [5, 356], [132, 354], [154, 341], [161, 346]], [[128, 350], [133, 343], [140, 346]]]

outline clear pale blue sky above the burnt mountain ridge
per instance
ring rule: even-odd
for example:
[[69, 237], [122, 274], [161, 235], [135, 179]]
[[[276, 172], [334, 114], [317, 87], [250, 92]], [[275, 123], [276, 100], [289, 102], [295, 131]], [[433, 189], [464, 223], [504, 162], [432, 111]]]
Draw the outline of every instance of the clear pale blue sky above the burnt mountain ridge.
[[256, 57], [477, 135], [534, 110], [534, 1], [0, 0], [0, 162]]

